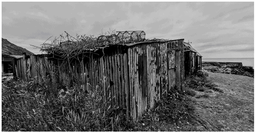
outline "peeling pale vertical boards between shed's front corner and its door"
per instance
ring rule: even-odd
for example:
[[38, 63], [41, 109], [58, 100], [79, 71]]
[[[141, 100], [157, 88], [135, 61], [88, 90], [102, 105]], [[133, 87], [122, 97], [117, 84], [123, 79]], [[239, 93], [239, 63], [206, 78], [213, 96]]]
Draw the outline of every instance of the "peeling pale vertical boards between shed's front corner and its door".
[[144, 114], [155, 106], [168, 86], [167, 43], [142, 44], [128, 48], [131, 115]]

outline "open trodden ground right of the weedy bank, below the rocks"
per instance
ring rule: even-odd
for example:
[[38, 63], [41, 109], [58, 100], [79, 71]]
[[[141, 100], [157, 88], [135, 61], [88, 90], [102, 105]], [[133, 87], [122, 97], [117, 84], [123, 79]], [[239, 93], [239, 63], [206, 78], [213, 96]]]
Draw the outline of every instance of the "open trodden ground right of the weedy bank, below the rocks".
[[[254, 131], [254, 78], [209, 73], [223, 93], [196, 91], [196, 115], [201, 131]], [[204, 97], [202, 97], [204, 96]]]

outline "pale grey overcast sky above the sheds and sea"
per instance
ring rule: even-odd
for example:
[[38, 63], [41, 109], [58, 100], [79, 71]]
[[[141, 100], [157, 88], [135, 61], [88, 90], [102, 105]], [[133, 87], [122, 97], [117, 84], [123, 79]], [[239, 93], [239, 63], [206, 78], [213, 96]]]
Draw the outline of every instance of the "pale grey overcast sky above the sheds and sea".
[[185, 39], [203, 58], [254, 57], [253, 2], [2, 2], [2, 38], [39, 54], [50, 36], [110, 30]]

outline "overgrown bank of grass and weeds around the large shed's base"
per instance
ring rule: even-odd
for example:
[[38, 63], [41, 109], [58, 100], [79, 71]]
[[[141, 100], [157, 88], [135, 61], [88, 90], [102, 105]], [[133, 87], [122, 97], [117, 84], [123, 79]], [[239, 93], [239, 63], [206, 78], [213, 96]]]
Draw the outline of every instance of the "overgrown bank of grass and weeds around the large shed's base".
[[2, 84], [2, 131], [201, 131], [194, 115], [194, 91], [213, 84], [206, 77], [188, 77], [185, 89], [164, 94], [155, 108], [136, 121], [103, 104], [100, 90], [34, 81]]

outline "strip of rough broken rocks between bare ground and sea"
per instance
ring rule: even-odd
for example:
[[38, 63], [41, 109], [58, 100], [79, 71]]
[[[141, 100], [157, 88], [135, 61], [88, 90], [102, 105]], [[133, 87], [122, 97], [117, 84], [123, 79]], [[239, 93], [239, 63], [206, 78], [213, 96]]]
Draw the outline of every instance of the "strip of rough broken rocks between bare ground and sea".
[[245, 75], [254, 77], [254, 69], [251, 66], [240, 66], [240, 65], [221, 65], [218, 62], [204, 62], [202, 69], [214, 73], [226, 73], [235, 75]]

